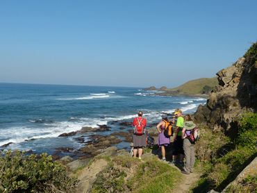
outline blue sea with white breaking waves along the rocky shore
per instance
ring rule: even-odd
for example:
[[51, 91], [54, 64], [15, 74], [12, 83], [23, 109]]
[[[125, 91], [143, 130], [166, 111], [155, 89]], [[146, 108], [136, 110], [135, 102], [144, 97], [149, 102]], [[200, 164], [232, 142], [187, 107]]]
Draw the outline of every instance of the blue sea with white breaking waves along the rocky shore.
[[160, 121], [163, 112], [181, 108], [192, 113], [206, 103], [203, 98], [160, 97], [156, 92], [136, 87], [0, 83], [0, 146], [12, 142], [1, 149], [36, 153], [53, 153], [59, 147], [79, 149], [83, 144], [74, 137], [58, 135], [98, 124], [111, 126], [111, 131], [99, 133], [109, 135], [119, 131], [112, 121], [131, 121], [138, 110], [151, 124]]

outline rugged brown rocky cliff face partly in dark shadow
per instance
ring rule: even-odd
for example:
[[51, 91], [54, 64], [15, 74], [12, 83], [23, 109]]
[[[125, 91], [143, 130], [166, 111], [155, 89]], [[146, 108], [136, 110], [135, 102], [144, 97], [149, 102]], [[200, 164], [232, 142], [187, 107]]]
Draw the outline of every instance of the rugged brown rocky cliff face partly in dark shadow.
[[194, 114], [197, 122], [208, 124], [214, 131], [235, 133], [236, 118], [243, 110], [257, 110], [257, 42], [231, 67], [217, 72], [219, 86], [210, 94], [205, 106]]

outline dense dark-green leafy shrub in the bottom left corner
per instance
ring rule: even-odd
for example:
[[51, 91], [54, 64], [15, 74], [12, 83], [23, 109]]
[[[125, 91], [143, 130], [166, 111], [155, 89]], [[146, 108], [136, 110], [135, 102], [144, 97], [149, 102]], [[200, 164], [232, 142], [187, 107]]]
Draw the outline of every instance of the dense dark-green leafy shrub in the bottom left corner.
[[0, 157], [0, 192], [74, 192], [77, 181], [51, 156], [8, 151]]

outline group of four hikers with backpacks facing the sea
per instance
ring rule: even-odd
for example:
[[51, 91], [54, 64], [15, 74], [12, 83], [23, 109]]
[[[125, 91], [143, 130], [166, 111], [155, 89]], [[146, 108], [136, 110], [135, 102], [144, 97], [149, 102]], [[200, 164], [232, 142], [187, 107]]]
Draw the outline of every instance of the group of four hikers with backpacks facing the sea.
[[[138, 117], [133, 119], [133, 157], [142, 159], [143, 148], [147, 146], [147, 119], [142, 117], [143, 112], [138, 112]], [[166, 161], [166, 149], [171, 143], [173, 135], [172, 165], [183, 167], [183, 174], [190, 174], [194, 167], [194, 144], [199, 138], [199, 130], [190, 115], [183, 116], [180, 109], [176, 109], [174, 117], [169, 121], [167, 114], [161, 116], [162, 120], [156, 126], [158, 131], [157, 144], [161, 150], [161, 160]], [[183, 162], [185, 158], [185, 164]]]

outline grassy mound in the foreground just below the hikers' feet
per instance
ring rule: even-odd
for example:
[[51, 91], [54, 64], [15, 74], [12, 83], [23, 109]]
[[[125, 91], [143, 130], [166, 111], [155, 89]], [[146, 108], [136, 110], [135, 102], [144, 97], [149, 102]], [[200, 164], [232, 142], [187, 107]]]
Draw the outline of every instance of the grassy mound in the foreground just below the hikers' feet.
[[181, 172], [157, 158], [117, 156], [97, 175], [92, 192], [170, 192]]

